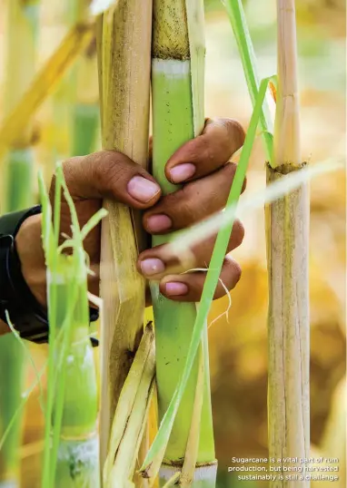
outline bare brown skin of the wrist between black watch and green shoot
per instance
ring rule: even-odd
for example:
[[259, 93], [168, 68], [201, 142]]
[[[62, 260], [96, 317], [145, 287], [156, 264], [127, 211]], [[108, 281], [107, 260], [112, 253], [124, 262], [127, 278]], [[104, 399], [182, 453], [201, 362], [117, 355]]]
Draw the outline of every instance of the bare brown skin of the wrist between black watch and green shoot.
[[45, 254], [41, 239], [42, 215], [25, 219], [15, 236], [23, 277], [37, 302], [46, 307]]

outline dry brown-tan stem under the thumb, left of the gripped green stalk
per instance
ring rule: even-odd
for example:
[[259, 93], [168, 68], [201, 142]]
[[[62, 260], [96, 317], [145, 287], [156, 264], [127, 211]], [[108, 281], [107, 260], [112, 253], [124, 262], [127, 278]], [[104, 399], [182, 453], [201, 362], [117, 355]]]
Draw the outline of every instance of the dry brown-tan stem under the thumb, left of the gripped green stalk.
[[[152, 0], [120, 0], [97, 28], [103, 148], [122, 151], [143, 167], [148, 160], [151, 30]], [[139, 215], [112, 201], [104, 207], [109, 214], [101, 259], [102, 465], [115, 407], [143, 334], [145, 285], [135, 268], [137, 241], [142, 247], [140, 232], [134, 234]]]

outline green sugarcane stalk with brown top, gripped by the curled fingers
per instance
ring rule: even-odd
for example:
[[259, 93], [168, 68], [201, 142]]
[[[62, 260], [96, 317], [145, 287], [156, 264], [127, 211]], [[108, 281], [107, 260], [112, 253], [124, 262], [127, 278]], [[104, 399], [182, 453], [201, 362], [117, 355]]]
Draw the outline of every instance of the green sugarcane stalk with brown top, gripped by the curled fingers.
[[[187, 11], [189, 5], [191, 11]], [[193, 12], [193, 15], [192, 15]], [[192, 20], [193, 19], [193, 20]], [[191, 20], [191, 22], [189, 22]], [[167, 181], [166, 161], [184, 142], [203, 130], [203, 2], [196, 0], [154, 0], [154, 28], [152, 49], [153, 96], [153, 174], [168, 194], [177, 185]], [[193, 54], [193, 56], [191, 55]], [[155, 236], [153, 245], [159, 245], [171, 236]], [[158, 284], [151, 284], [154, 305], [156, 340], [156, 378], [159, 420], [164, 416], [182, 375], [188, 346], [196, 317], [192, 303], [178, 303], [164, 298]], [[209, 384], [207, 334], [203, 339], [203, 406], [195, 459], [192, 486], [214, 486], [215, 454]], [[162, 485], [177, 471], [182, 471], [186, 445], [190, 433], [198, 378], [199, 358], [189, 380], [173, 430], [164, 454], [160, 472]], [[199, 480], [199, 481], [198, 481]]]

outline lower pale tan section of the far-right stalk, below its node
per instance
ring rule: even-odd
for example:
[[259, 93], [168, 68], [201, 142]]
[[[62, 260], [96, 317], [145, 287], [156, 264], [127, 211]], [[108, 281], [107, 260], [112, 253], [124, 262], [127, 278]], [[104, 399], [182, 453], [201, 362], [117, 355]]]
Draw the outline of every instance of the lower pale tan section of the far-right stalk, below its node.
[[[268, 168], [268, 183], [285, 178], [285, 168]], [[305, 184], [267, 209], [269, 456], [275, 459], [310, 456], [308, 199]], [[283, 478], [273, 488], [292, 485], [285, 473]], [[295, 482], [302, 488], [309, 485]]]

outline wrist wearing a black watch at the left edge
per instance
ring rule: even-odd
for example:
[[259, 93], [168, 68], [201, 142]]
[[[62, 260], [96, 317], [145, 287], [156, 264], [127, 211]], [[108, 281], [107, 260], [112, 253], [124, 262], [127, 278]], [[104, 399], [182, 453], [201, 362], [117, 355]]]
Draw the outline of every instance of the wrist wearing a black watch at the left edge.
[[0, 218], [0, 334], [8, 317], [21, 337], [45, 341], [45, 257], [40, 207]]

